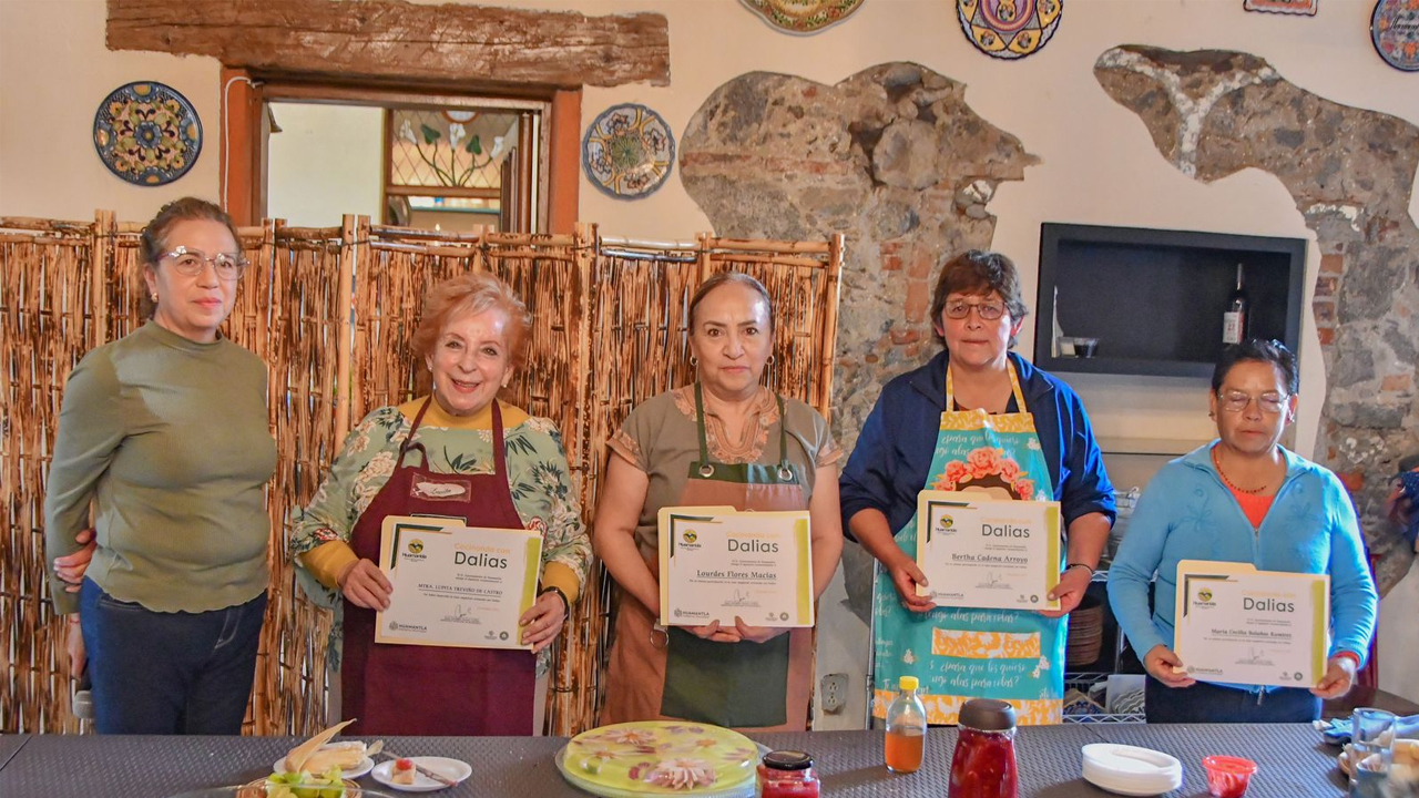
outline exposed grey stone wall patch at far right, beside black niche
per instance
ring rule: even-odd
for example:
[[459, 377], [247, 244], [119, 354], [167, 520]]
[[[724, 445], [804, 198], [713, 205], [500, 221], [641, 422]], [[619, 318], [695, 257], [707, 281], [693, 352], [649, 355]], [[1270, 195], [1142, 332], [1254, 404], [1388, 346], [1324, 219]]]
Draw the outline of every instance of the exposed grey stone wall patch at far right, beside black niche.
[[1349, 487], [1388, 591], [1413, 559], [1382, 513], [1398, 459], [1419, 452], [1419, 229], [1409, 216], [1419, 128], [1317, 97], [1243, 53], [1115, 47], [1094, 75], [1183, 175], [1266, 170], [1315, 231], [1311, 311], [1327, 379], [1317, 454]]

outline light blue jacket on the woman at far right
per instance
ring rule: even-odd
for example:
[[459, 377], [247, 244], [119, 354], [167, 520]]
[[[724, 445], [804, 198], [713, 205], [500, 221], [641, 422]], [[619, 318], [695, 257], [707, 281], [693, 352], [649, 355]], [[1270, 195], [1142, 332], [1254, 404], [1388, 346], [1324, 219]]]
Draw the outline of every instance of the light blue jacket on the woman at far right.
[[[1364, 665], [1379, 598], [1355, 507], [1330, 470], [1287, 450], [1286, 481], [1256, 530], [1212, 466], [1212, 444], [1169, 461], [1148, 483], [1108, 568], [1108, 603], [1142, 659], [1172, 647], [1178, 561], [1250, 562], [1260, 571], [1330, 574], [1331, 649]], [[1154, 612], [1148, 615], [1148, 584]], [[1236, 687], [1246, 687], [1236, 684]]]

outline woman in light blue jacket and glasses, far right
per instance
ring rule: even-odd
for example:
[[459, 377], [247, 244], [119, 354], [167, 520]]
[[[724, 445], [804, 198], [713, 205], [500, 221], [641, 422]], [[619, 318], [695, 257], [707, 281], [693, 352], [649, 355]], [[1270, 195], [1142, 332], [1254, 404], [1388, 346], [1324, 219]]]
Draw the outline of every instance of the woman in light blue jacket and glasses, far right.
[[[1164, 466], [1138, 500], [1108, 571], [1108, 599], [1148, 669], [1148, 723], [1311, 721], [1321, 699], [1349, 690], [1369, 650], [1378, 598], [1349, 494], [1335, 474], [1279, 443], [1296, 420], [1297, 385], [1286, 346], [1227, 346], [1212, 372], [1218, 440]], [[1320, 684], [1218, 684], [1174, 672], [1186, 665], [1172, 650], [1181, 559], [1328, 574], [1332, 639]]]

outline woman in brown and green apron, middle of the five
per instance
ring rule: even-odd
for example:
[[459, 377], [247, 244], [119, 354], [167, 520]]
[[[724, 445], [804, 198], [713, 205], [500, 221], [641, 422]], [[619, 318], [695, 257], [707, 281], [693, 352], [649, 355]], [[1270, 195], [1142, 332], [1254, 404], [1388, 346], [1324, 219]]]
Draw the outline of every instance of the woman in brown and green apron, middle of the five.
[[841, 450], [817, 412], [759, 385], [773, 348], [768, 291], [744, 274], [711, 277], [690, 304], [690, 328], [698, 382], [644, 402], [609, 442], [596, 548], [620, 591], [600, 721], [803, 730], [812, 629], [656, 623], [661, 507], [807, 510], [815, 595], [843, 550]]

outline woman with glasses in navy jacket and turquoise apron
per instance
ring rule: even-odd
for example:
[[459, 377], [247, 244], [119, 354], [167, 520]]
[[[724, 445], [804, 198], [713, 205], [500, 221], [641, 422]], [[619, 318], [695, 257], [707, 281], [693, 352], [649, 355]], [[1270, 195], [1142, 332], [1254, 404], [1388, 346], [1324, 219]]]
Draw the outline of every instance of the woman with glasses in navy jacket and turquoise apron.
[[[917, 676], [928, 721], [966, 699], [1009, 701], [1022, 724], [1060, 723], [1064, 619], [1084, 596], [1114, 521], [1114, 488], [1078, 396], [1009, 349], [1026, 315], [1015, 264], [972, 250], [948, 261], [931, 318], [944, 351], [887, 383], [841, 477], [843, 524], [881, 564], [874, 585], [873, 714]], [[1067, 532], [1057, 612], [938, 608], [917, 595], [917, 494], [981, 491], [1059, 501]]]

